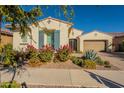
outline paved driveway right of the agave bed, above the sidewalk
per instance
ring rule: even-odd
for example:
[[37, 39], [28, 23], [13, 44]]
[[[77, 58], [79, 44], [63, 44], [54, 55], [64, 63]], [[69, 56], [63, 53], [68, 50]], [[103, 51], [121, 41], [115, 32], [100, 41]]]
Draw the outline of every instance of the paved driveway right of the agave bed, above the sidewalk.
[[100, 52], [98, 55], [103, 60], [109, 61], [113, 66], [118, 67], [120, 70], [124, 70], [124, 54]]

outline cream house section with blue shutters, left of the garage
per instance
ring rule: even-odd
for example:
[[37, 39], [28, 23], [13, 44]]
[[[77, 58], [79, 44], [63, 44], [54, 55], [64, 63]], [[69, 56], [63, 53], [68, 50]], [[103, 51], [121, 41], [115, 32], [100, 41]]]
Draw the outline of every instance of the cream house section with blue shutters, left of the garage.
[[[14, 49], [25, 48], [28, 44], [32, 44], [37, 49], [47, 44], [55, 49], [67, 44], [70, 44], [75, 51], [79, 49], [80, 43], [77, 37], [82, 34], [82, 31], [72, 28], [72, 23], [51, 17], [40, 20], [38, 23], [39, 27], [30, 25], [33, 40], [29, 36], [21, 38], [18, 31], [13, 32]], [[46, 29], [50, 34], [45, 33]]]

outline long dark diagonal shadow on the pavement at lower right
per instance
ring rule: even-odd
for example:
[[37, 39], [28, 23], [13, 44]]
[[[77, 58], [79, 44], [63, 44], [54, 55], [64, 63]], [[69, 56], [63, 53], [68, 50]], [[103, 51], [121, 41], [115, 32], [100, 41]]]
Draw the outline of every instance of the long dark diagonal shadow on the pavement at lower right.
[[101, 84], [104, 84], [105, 86], [107, 86], [109, 88], [123, 88], [124, 87], [124, 85], [119, 84], [117, 82], [114, 82], [114, 81], [112, 81], [110, 79], [107, 79], [105, 77], [102, 77], [100, 75], [94, 74], [94, 73], [86, 71], [86, 70], [84, 70], [84, 71], [87, 72], [97, 82], [99, 82]]

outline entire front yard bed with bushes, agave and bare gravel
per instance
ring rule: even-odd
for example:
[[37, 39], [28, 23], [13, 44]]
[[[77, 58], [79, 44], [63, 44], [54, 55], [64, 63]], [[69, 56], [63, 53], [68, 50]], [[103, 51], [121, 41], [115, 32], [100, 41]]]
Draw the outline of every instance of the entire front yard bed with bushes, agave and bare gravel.
[[[46, 45], [41, 49], [36, 49], [28, 45], [26, 50], [12, 50], [11, 45], [6, 45], [3, 59], [4, 66], [24, 65], [26, 67], [43, 68], [63, 68], [63, 69], [116, 69], [108, 61], [102, 60], [93, 50], [88, 50], [82, 54], [82, 57], [71, 56], [72, 49], [69, 45], [61, 46], [55, 50]], [[55, 52], [56, 51], [56, 52]]]

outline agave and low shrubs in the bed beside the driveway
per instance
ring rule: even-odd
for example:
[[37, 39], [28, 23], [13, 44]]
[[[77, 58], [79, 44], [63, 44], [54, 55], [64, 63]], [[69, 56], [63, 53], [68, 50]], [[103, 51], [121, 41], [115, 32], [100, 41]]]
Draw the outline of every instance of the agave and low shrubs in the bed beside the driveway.
[[70, 57], [72, 62], [84, 69], [99, 69], [99, 70], [118, 70], [117, 67], [112, 66], [109, 61], [102, 60], [93, 50], [88, 50], [82, 57]]

